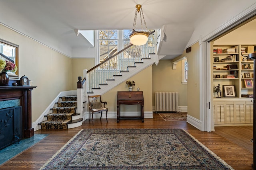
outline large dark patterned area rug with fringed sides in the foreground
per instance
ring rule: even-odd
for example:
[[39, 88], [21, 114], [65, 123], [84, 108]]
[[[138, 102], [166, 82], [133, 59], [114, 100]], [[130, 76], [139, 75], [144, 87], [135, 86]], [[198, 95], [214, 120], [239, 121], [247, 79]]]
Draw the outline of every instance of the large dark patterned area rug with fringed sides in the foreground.
[[41, 170], [231, 170], [183, 129], [83, 129]]

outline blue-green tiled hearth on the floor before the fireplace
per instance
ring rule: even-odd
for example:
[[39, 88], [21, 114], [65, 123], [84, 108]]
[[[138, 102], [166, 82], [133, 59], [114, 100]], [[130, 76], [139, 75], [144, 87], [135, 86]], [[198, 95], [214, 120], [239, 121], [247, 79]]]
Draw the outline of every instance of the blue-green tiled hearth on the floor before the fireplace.
[[20, 143], [14, 143], [9, 147], [0, 150], [0, 165], [6, 162], [7, 160], [13, 158], [20, 152], [35, 145], [36, 143], [44, 139], [46, 136], [48, 136], [48, 134], [34, 134], [33, 137], [30, 137], [28, 139], [22, 139]]

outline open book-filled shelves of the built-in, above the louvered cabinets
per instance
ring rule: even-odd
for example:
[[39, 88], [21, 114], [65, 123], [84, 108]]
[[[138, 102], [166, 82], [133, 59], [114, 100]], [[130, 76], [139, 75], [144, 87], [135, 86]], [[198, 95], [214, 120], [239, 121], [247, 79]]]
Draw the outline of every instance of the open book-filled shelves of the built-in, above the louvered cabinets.
[[[212, 57], [213, 89], [218, 84], [223, 90], [221, 97], [236, 97], [253, 93], [253, 61], [248, 54], [256, 45], [214, 45]], [[249, 52], [249, 53], [248, 53]], [[223, 86], [234, 85], [235, 96], [225, 95]], [[214, 90], [214, 97], [217, 94]]]

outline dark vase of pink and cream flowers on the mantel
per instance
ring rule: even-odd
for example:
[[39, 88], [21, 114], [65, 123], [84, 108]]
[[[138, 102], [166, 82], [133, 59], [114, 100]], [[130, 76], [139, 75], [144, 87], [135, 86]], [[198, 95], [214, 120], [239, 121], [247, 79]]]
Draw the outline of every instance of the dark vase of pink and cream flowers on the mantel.
[[8, 71], [16, 72], [17, 66], [8, 61], [0, 58], [0, 86], [7, 86], [9, 82], [9, 76], [7, 74]]

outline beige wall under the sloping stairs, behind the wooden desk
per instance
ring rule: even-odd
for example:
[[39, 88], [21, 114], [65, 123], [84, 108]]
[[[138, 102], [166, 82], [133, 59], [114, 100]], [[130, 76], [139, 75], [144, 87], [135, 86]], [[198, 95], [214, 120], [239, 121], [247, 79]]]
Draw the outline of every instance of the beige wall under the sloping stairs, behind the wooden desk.
[[[133, 80], [135, 86], [133, 90], [136, 91], [140, 88], [143, 91], [144, 96], [144, 111], [152, 112], [152, 66], [147, 67], [135, 76], [128, 78], [127, 80]], [[122, 82], [112, 90], [102, 95], [102, 100], [108, 102], [108, 111], [116, 111], [116, 98], [118, 91], [128, 91], [128, 86], [125, 82]], [[120, 111], [140, 111], [139, 105], [122, 105]]]

